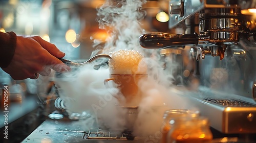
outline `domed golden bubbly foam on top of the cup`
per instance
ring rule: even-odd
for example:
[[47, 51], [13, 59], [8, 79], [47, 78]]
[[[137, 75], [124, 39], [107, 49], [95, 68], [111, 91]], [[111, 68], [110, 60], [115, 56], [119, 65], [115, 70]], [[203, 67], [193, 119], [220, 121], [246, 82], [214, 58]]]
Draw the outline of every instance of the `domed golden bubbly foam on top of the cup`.
[[135, 50], [118, 50], [110, 53], [110, 74], [146, 75], [147, 64], [143, 56]]

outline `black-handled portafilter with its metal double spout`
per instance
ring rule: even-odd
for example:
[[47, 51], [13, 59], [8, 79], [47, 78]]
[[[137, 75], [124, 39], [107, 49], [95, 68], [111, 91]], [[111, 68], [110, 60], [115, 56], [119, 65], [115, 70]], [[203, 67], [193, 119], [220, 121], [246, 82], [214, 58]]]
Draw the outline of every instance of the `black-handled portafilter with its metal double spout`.
[[196, 59], [202, 59], [205, 55], [220, 56], [220, 60], [224, 58], [227, 45], [222, 42], [210, 43], [210, 37], [207, 35], [198, 36], [194, 34], [168, 34], [168, 33], [151, 33], [143, 34], [139, 38], [140, 45], [146, 49], [174, 48], [182, 45], [198, 45], [199, 42], [211, 44], [211, 46], [199, 47]]

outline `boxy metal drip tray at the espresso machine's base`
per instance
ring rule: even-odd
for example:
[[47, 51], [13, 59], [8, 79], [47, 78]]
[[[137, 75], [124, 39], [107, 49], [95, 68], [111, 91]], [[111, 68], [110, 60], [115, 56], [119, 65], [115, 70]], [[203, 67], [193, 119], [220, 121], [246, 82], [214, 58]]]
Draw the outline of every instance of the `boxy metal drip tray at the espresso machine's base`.
[[[209, 118], [210, 126], [222, 133], [256, 133], [256, 104], [252, 99], [236, 94], [200, 88], [181, 92], [188, 108], [198, 109]], [[190, 95], [189, 97], [184, 95]]]

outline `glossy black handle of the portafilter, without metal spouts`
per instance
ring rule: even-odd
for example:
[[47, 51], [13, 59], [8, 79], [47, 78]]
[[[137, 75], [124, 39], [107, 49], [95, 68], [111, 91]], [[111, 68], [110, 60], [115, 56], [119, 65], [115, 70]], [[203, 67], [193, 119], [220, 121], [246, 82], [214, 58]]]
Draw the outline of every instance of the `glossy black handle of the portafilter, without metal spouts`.
[[199, 36], [194, 34], [150, 33], [139, 38], [140, 45], [146, 49], [161, 49], [181, 45], [197, 45]]

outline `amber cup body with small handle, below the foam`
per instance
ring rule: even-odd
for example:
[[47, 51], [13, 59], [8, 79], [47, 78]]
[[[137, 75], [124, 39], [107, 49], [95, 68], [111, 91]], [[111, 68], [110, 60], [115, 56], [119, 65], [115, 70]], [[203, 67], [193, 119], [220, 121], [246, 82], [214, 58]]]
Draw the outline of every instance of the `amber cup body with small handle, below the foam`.
[[[141, 98], [141, 91], [139, 89], [139, 82], [141, 80], [147, 80], [147, 74], [144, 75], [118, 75], [110, 74], [110, 78], [104, 80], [106, 88], [110, 88], [109, 81], [114, 81], [116, 87], [120, 90], [119, 93], [111, 92], [112, 96], [117, 98], [121, 105], [130, 105], [139, 103]], [[124, 99], [122, 99], [121, 95]]]

